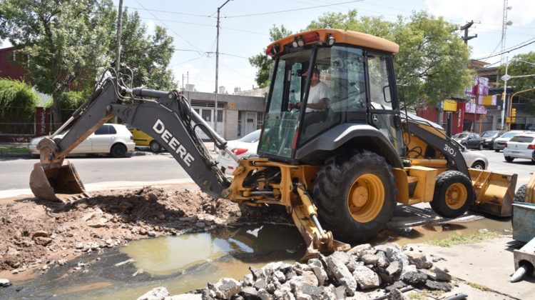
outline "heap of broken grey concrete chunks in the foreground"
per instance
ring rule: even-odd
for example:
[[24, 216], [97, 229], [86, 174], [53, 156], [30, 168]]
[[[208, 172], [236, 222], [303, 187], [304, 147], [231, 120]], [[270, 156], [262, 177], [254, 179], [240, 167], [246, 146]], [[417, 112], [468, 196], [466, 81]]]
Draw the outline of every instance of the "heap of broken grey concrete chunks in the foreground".
[[[426, 266], [428, 269], [419, 269]], [[373, 248], [369, 244], [350, 251], [310, 259], [293, 265], [282, 261], [263, 268], [250, 267], [251, 274], [241, 281], [220, 279], [200, 289], [202, 299], [367, 299], [366, 292], [394, 291], [395, 299], [404, 299], [399, 289], [407, 285], [419, 289], [449, 291], [446, 271], [435, 268], [424, 254], [402, 249], [397, 244]]]

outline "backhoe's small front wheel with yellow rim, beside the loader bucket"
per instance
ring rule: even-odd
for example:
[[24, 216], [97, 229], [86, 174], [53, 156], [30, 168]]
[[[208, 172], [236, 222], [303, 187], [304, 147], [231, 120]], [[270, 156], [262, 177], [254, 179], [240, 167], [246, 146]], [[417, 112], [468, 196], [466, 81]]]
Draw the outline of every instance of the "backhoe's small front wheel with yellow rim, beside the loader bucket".
[[472, 205], [474, 187], [462, 172], [445, 171], [437, 176], [431, 208], [444, 218], [457, 218]]

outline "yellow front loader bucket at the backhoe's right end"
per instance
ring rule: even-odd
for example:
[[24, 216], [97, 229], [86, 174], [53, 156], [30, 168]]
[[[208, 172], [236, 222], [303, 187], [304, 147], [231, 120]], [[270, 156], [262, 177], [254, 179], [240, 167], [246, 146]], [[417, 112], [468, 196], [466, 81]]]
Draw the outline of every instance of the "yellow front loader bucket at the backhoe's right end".
[[472, 210], [494, 216], [511, 216], [516, 174], [469, 169], [476, 201]]

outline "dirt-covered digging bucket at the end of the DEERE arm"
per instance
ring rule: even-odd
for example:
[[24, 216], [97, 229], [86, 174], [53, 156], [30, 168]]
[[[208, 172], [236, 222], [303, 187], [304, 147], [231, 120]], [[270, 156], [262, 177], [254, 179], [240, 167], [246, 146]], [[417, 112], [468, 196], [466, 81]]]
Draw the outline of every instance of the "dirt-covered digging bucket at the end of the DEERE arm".
[[86, 197], [86, 189], [70, 161], [59, 167], [43, 167], [34, 164], [30, 174], [30, 189], [39, 199], [66, 201]]

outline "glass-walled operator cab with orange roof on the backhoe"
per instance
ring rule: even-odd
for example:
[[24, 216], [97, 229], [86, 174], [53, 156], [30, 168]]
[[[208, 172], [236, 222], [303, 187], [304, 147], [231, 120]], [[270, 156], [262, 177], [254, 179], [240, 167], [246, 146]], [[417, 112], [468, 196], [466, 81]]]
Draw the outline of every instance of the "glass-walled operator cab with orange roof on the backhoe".
[[[403, 153], [393, 53], [366, 47], [370, 43], [357, 44], [362, 36], [368, 37], [367, 34], [341, 32], [344, 36], [340, 36], [340, 44], [335, 40], [340, 31], [320, 29], [287, 37], [268, 47], [275, 65], [258, 146], [258, 152], [263, 156], [282, 161], [301, 160], [298, 149], [329, 134], [332, 134], [330, 141], [334, 144], [340, 126], [344, 124], [345, 128], [349, 128], [347, 124], [372, 126], [384, 135], [399, 155]], [[355, 34], [362, 36], [355, 39]], [[322, 36], [325, 36], [324, 41]], [[320, 83], [327, 87], [324, 93], [328, 96], [326, 107], [318, 108], [312, 104], [316, 94], [312, 86], [317, 84], [313, 78], [315, 69]], [[307, 76], [302, 76], [303, 73]], [[297, 103], [300, 103], [300, 109], [292, 109]], [[322, 146], [327, 153], [329, 146]]]

